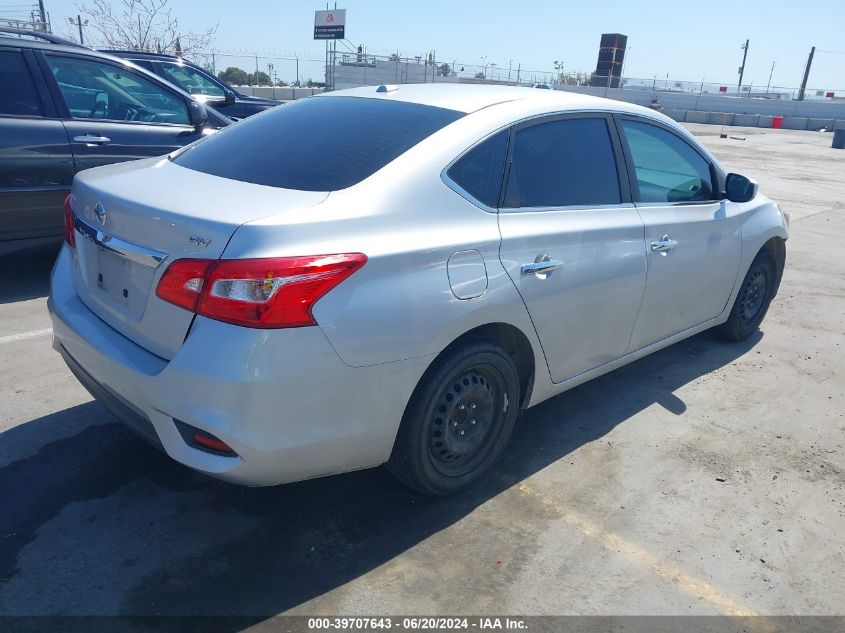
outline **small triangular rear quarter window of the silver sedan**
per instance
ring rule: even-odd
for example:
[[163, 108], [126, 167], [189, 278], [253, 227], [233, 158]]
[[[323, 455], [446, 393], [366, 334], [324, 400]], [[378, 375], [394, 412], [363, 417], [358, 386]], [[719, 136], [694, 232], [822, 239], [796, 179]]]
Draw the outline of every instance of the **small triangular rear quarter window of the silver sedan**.
[[507, 152], [506, 130], [467, 152], [449, 169], [449, 178], [479, 202], [497, 207]]

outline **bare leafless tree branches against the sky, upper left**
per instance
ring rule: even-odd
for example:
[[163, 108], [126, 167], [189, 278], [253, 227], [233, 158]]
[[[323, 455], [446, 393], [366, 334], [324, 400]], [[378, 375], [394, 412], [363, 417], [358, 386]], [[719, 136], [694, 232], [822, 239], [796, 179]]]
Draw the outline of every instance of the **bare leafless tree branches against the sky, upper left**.
[[[169, 0], [93, 0], [77, 5], [88, 18], [100, 46], [191, 56], [210, 48], [217, 26], [201, 33], [185, 31]], [[87, 39], [87, 38], [86, 38]]]

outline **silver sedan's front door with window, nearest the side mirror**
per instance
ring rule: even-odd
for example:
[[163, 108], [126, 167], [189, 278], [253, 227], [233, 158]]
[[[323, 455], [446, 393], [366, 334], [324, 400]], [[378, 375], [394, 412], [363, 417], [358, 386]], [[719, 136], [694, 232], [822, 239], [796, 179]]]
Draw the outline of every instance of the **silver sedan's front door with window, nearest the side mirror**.
[[742, 218], [714, 165], [668, 126], [619, 119], [645, 223], [648, 282], [631, 351], [717, 317], [739, 269]]

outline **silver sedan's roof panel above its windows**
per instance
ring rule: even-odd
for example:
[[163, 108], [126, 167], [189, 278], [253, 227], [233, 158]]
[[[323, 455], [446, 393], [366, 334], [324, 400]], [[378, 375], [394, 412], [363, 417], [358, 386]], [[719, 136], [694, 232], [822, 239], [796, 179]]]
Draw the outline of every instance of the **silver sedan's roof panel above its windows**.
[[564, 90], [537, 90], [528, 86], [497, 86], [489, 84], [397, 84], [392, 86], [364, 86], [318, 95], [330, 97], [365, 97], [389, 101], [404, 101], [421, 105], [448, 108], [467, 114], [489, 106], [510, 101], [530, 101], [532, 105], [545, 103], [555, 111], [603, 110], [612, 112], [649, 113], [652, 110], [632, 103], [593, 97]]

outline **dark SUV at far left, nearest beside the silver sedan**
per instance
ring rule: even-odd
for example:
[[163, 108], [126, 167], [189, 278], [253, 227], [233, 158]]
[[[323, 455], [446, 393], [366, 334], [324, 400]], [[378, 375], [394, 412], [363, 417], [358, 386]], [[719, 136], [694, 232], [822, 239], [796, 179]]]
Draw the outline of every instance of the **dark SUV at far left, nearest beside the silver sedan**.
[[167, 154], [231, 122], [124, 59], [0, 28], [0, 255], [61, 241], [76, 172]]

